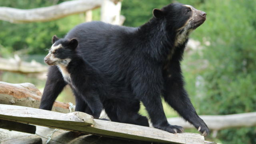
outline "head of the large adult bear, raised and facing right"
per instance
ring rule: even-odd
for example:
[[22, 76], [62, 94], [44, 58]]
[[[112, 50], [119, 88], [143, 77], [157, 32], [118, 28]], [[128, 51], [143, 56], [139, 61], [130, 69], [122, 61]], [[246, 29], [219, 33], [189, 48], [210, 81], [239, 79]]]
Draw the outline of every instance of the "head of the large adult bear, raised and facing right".
[[166, 23], [168, 32], [176, 34], [176, 41], [186, 39], [192, 30], [198, 28], [206, 20], [206, 12], [179, 3], [169, 4], [161, 10], [154, 9], [153, 15], [156, 19]]

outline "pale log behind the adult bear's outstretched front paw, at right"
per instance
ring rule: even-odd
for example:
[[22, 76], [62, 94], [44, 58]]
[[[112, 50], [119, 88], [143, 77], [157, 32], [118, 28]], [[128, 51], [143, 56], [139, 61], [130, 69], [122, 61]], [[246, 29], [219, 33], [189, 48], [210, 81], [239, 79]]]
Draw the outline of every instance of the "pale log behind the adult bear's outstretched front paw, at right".
[[[222, 130], [226, 128], [252, 127], [256, 126], [256, 112], [243, 114], [228, 114], [215, 116], [200, 116], [211, 130]], [[182, 118], [168, 118], [170, 124], [182, 126], [183, 128], [194, 128]]]

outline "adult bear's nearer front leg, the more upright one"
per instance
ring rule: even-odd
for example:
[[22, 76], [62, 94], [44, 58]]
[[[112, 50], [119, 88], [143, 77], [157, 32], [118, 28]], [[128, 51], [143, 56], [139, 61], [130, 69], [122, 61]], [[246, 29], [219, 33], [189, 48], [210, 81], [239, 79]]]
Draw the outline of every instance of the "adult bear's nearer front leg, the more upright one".
[[[149, 62], [150, 65], [154, 62]], [[136, 98], [142, 101], [154, 128], [165, 130], [171, 133], [183, 132], [181, 126], [170, 125], [164, 114], [162, 100], [160, 97], [163, 88], [162, 71], [156, 64], [154, 69], [146, 64], [145, 67], [140, 67], [138, 72], [133, 76], [132, 88], [136, 94]]]

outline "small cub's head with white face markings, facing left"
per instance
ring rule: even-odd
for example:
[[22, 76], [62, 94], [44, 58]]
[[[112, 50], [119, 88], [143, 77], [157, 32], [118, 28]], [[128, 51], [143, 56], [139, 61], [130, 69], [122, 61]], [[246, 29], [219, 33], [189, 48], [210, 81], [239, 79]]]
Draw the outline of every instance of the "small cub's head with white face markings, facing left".
[[59, 39], [57, 36], [53, 36], [52, 47], [44, 58], [44, 62], [48, 65], [67, 66], [71, 59], [76, 55], [77, 46], [78, 41], [76, 39]]

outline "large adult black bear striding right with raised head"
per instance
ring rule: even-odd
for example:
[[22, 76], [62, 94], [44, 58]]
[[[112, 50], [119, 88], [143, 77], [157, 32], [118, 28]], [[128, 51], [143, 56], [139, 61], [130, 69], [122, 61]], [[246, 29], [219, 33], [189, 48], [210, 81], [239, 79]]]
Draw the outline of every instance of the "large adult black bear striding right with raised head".
[[[154, 9], [153, 15], [138, 28], [103, 22], [80, 24], [65, 38], [78, 39], [84, 59], [111, 83], [125, 86], [135, 94], [134, 99], [143, 102], [155, 128], [171, 133], [183, 131], [167, 122], [162, 96], [180, 116], [206, 135], [209, 129], [188, 98], [180, 68], [188, 35], [206, 20], [206, 13], [175, 3]], [[65, 85], [58, 68], [51, 67], [40, 108], [50, 110]], [[113, 109], [117, 103], [111, 101]]]

